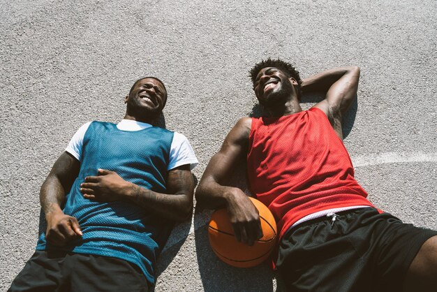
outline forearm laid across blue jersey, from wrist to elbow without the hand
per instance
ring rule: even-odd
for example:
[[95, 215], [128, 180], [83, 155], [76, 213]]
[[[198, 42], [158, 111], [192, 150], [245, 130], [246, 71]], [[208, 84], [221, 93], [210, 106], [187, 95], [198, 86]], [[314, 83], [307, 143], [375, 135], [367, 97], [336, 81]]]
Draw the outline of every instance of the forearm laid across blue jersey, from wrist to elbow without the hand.
[[126, 198], [135, 205], [140, 205], [148, 212], [172, 219], [183, 221], [191, 216], [193, 212], [193, 194], [161, 194], [131, 184], [126, 193]]

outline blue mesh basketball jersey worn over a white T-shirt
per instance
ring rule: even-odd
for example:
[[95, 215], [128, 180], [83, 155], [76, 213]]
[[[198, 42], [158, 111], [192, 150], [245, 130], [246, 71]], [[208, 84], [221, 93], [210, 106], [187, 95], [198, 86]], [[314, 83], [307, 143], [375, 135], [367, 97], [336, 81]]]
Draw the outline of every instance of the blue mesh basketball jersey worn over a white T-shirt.
[[158, 127], [122, 131], [116, 124], [92, 122], [84, 135], [80, 172], [66, 196], [64, 213], [77, 218], [83, 236], [66, 247], [54, 247], [40, 235], [36, 249], [63, 249], [121, 258], [138, 265], [154, 283], [154, 263], [173, 221], [149, 214], [128, 201], [99, 203], [80, 192], [80, 184], [98, 168], [124, 180], [165, 193], [173, 132]]

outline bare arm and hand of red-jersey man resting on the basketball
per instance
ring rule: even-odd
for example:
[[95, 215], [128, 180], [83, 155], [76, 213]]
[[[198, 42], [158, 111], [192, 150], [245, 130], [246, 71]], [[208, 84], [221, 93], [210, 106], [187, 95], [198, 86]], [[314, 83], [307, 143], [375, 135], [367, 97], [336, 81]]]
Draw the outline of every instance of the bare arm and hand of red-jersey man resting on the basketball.
[[262, 237], [258, 210], [241, 189], [225, 185], [239, 158], [247, 154], [250, 131], [250, 118], [237, 122], [221, 149], [209, 161], [195, 198], [205, 207], [226, 207], [237, 240], [252, 245]]

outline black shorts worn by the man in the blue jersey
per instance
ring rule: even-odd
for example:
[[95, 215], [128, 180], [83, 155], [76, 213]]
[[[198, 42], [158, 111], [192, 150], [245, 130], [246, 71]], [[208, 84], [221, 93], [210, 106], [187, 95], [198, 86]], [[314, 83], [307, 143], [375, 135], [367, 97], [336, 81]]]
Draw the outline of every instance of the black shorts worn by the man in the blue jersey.
[[119, 258], [35, 251], [8, 292], [142, 291], [147, 280], [133, 263]]

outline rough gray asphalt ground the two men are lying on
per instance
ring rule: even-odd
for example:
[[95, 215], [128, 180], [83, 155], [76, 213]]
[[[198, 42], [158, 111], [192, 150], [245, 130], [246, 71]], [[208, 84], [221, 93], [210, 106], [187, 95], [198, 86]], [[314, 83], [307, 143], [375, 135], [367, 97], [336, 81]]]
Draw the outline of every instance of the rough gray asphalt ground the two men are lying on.
[[[267, 57], [302, 77], [362, 68], [345, 138], [357, 180], [378, 207], [437, 228], [436, 15], [434, 0], [1, 0], [0, 290], [34, 251], [40, 184], [82, 124], [118, 122], [133, 82], [156, 75], [168, 87], [165, 125], [191, 141], [200, 180], [252, 111], [248, 71]], [[172, 234], [155, 290], [280, 291], [267, 265], [214, 256], [208, 215]]]

